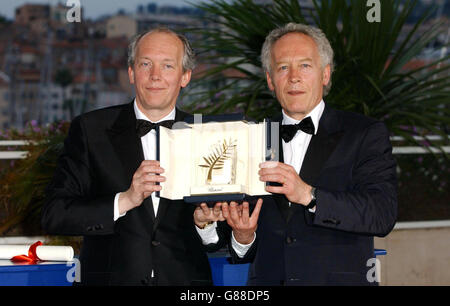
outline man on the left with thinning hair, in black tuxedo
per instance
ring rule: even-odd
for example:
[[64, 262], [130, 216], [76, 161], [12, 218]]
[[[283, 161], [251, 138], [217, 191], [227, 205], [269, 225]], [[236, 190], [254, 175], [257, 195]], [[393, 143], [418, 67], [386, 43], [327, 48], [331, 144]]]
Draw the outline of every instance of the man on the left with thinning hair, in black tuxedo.
[[175, 106], [194, 68], [192, 48], [184, 36], [154, 29], [131, 42], [128, 65], [135, 100], [72, 121], [42, 226], [84, 236], [82, 284], [210, 285], [205, 251], [222, 246], [226, 229], [219, 222], [219, 238], [208, 244], [201, 228], [222, 219], [220, 208], [198, 208], [194, 220], [194, 205], [155, 196], [165, 180], [156, 131], [188, 116]]

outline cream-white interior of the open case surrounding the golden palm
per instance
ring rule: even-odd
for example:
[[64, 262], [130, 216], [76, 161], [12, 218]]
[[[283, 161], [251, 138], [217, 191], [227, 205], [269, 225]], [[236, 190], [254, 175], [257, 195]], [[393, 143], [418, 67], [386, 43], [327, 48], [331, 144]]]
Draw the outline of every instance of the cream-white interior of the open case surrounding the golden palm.
[[[161, 197], [179, 200], [205, 194], [268, 194], [258, 175], [259, 164], [265, 161], [264, 123], [231, 121], [188, 126], [190, 128], [173, 130], [160, 127], [160, 164], [166, 177], [161, 183]], [[204, 157], [224, 139], [236, 144], [235, 182], [224, 184], [229, 181], [228, 172], [224, 171], [222, 178], [216, 175], [213, 184], [207, 185], [208, 169], [199, 165], [205, 164]]]

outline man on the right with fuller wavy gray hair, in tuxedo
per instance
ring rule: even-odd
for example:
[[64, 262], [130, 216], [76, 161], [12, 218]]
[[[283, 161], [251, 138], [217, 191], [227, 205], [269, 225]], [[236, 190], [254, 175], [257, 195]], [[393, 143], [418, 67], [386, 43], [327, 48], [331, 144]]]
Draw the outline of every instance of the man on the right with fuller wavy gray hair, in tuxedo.
[[[249, 285], [370, 285], [373, 236], [397, 215], [396, 163], [382, 122], [323, 101], [331, 86], [333, 50], [320, 29], [290, 23], [262, 48], [267, 83], [282, 114], [280, 161], [260, 165], [264, 197], [256, 233], [239, 228], [237, 206], [223, 216], [240, 231], [252, 262]], [[253, 243], [249, 243], [253, 241]], [[373, 270], [373, 269], [372, 269]]]

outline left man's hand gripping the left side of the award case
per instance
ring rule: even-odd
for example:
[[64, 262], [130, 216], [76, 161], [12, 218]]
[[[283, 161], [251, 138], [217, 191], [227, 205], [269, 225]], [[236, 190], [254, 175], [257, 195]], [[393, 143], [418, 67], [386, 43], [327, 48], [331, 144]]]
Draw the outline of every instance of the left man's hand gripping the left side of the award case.
[[130, 188], [119, 195], [119, 213], [140, 206], [153, 192], [160, 191], [157, 182], [164, 182], [166, 178], [158, 175], [164, 172], [157, 160], [144, 160], [133, 175]]

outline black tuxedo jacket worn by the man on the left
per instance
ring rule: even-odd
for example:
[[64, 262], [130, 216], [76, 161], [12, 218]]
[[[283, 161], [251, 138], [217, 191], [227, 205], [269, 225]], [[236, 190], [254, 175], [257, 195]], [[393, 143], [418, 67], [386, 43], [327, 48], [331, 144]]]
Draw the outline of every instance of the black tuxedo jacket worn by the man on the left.
[[[177, 109], [175, 119], [187, 115]], [[84, 236], [80, 261], [86, 285], [212, 284], [205, 251], [222, 245], [203, 246], [194, 205], [161, 198], [155, 218], [148, 197], [114, 222], [114, 196], [129, 188], [143, 160], [133, 103], [75, 118], [47, 189], [43, 228]], [[221, 227], [218, 233], [222, 238]]]

